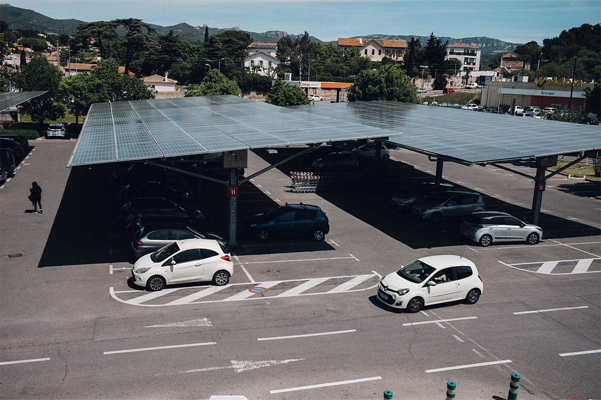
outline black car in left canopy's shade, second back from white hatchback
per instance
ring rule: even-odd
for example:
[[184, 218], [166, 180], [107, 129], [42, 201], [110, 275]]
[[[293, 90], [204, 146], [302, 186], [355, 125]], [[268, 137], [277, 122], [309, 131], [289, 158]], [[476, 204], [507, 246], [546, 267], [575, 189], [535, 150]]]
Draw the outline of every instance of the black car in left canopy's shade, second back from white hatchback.
[[204, 213], [192, 206], [165, 199], [164, 197], [145, 197], [127, 201], [121, 207], [119, 217], [126, 227], [141, 220], [143, 224], [151, 222], [199, 223], [205, 219]]

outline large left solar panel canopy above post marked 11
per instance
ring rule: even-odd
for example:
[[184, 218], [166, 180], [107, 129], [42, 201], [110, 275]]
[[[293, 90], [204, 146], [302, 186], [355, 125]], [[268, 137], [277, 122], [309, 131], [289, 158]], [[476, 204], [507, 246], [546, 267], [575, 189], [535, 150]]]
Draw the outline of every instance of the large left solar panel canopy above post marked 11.
[[232, 95], [93, 104], [67, 166], [401, 133]]

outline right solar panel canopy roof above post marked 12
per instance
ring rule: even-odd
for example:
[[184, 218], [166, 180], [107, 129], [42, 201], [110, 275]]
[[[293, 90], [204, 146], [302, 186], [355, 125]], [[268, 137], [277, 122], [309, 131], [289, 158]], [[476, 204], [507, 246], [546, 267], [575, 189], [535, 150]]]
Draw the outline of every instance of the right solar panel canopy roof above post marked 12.
[[294, 106], [316, 116], [386, 127], [389, 140], [470, 163], [601, 149], [601, 128], [510, 115], [470, 112], [395, 101]]

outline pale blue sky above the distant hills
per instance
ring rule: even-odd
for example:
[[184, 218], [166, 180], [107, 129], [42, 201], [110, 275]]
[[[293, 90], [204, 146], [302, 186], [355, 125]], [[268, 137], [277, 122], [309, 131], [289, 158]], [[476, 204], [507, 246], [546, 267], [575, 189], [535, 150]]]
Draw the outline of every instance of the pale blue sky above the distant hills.
[[321, 40], [365, 34], [487, 36], [515, 43], [554, 37], [601, 21], [599, 1], [8, 0], [57, 19], [138, 17], [253, 32], [308, 31]]

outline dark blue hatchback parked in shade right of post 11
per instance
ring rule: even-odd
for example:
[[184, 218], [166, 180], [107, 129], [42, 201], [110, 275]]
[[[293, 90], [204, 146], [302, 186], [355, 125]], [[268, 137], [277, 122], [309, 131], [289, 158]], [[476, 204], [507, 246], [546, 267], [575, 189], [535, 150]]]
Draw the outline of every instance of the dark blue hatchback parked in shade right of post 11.
[[246, 220], [250, 236], [260, 240], [272, 237], [312, 237], [323, 240], [330, 231], [328, 216], [318, 206], [288, 204]]

